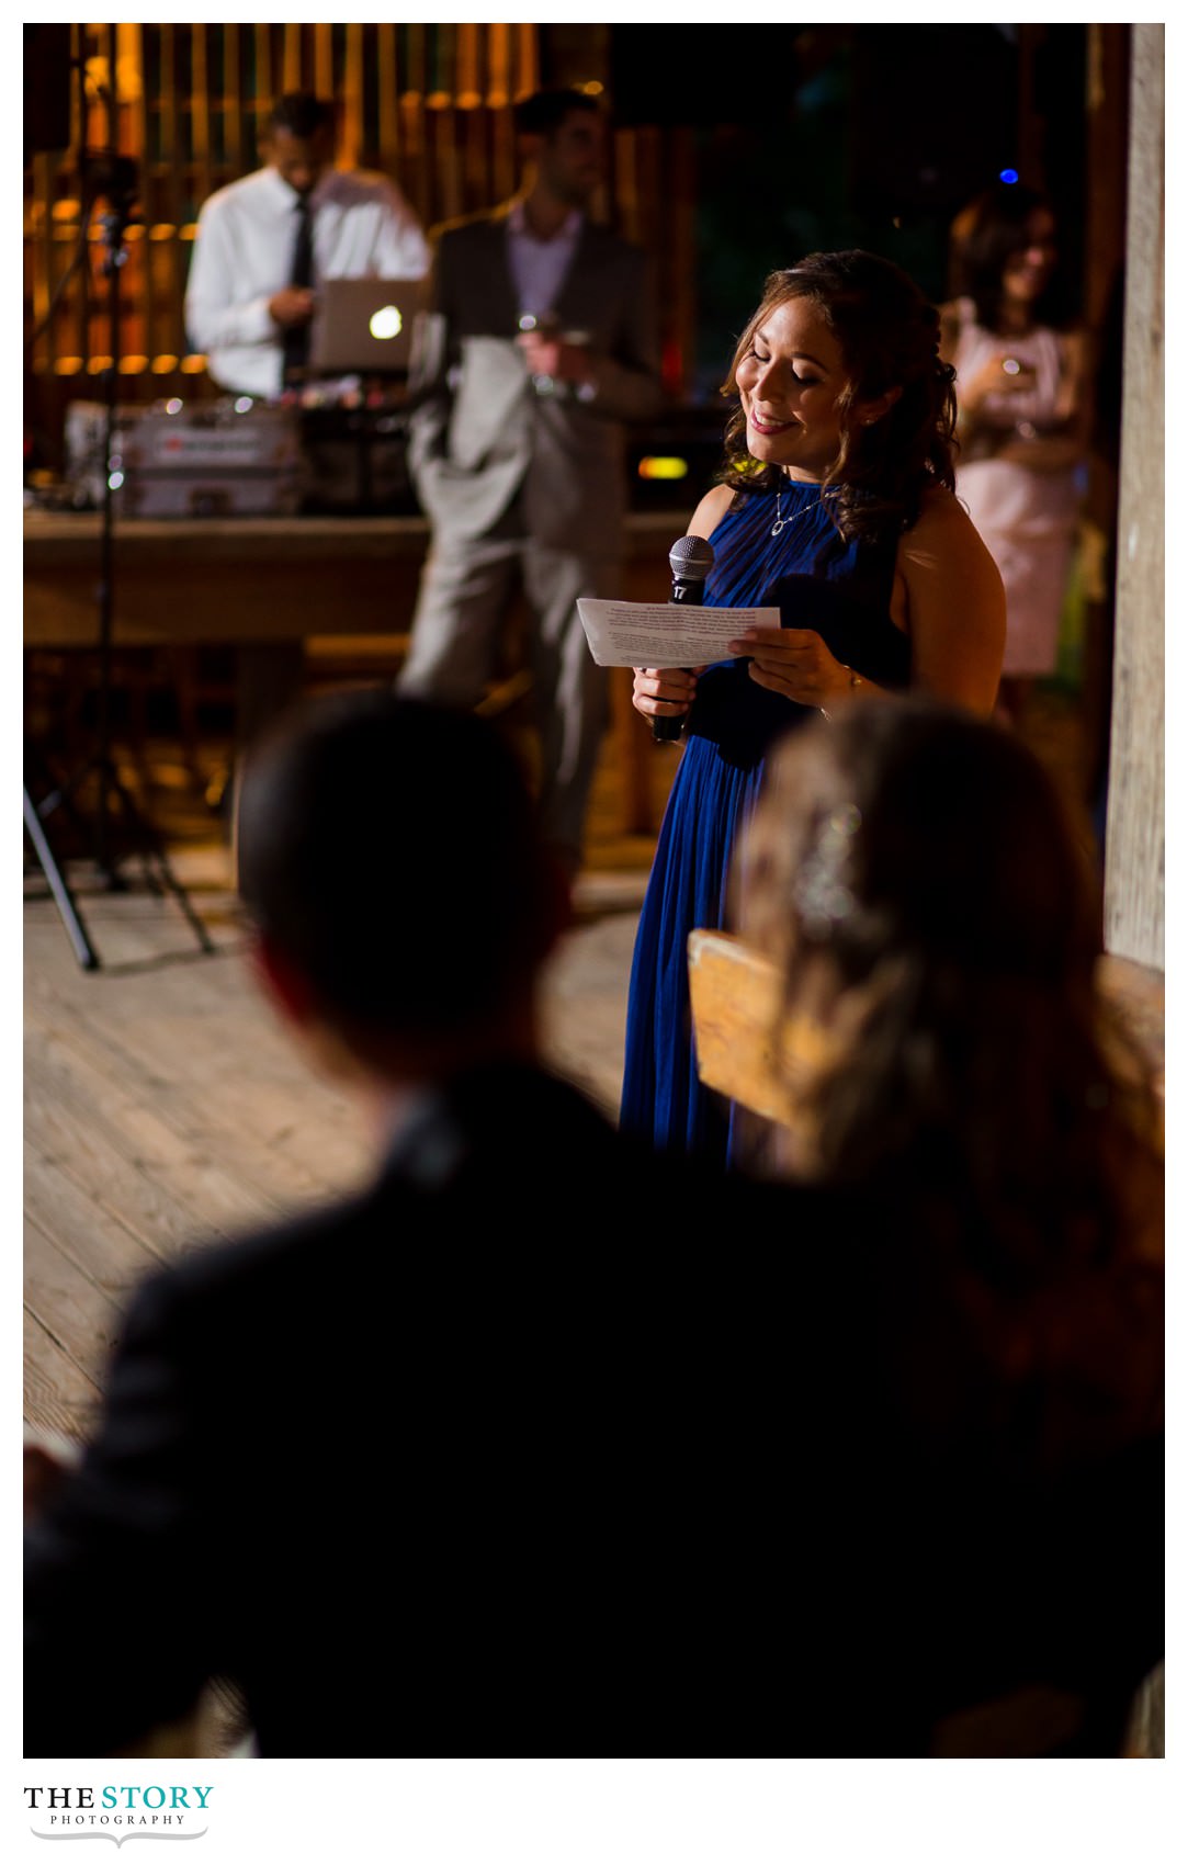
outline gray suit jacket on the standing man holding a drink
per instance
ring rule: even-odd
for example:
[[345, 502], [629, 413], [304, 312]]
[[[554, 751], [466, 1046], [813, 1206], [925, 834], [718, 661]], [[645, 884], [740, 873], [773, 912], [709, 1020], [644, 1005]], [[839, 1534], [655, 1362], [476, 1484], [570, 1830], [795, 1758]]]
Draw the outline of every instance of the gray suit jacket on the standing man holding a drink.
[[621, 421], [660, 403], [658, 338], [645, 256], [582, 226], [556, 311], [589, 338], [595, 394], [537, 395], [517, 349], [507, 214], [433, 235], [429, 310], [416, 339], [410, 464], [438, 541], [483, 537], [518, 487], [530, 535], [558, 550], [621, 552]]

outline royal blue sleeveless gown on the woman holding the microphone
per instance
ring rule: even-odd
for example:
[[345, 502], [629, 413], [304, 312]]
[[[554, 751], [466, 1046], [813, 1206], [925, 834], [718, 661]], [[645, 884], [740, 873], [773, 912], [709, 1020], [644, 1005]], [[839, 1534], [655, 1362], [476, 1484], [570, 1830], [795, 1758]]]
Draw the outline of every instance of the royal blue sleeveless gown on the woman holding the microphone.
[[[819, 498], [821, 487], [787, 481], [780, 489], [785, 528], [772, 537], [774, 492], [737, 496], [711, 537], [705, 602], [778, 606], [781, 627], [815, 629], [837, 660], [880, 686], [903, 688], [910, 643], [890, 617], [899, 539], [847, 543]], [[746, 660], [707, 668], [640, 914], [619, 1125], [658, 1149], [724, 1167], [733, 1110], [698, 1080], [686, 942], [694, 927], [725, 923], [735, 839], [759, 794], [772, 740], [817, 716], [817, 707], [757, 686]]]

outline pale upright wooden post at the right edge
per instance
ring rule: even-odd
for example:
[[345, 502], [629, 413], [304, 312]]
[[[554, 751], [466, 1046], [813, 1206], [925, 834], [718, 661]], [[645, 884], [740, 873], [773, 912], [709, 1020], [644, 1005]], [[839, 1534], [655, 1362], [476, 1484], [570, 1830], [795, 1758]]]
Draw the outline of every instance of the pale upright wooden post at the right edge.
[[1164, 28], [1132, 26], [1106, 949], [1164, 966]]

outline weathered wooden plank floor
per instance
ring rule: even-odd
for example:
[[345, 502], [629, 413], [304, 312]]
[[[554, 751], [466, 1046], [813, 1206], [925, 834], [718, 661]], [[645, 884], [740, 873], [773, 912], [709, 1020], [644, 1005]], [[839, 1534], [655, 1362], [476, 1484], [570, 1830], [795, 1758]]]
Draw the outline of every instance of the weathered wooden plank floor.
[[[172, 753], [175, 757], [175, 753]], [[103, 959], [84, 974], [39, 875], [24, 905], [24, 1416], [86, 1434], [123, 1304], [155, 1263], [319, 1201], [367, 1171], [354, 1110], [310, 1076], [250, 975], [229, 858], [170, 752], [155, 817], [216, 946], [136, 886], [88, 891]], [[656, 753], [655, 813], [675, 757]], [[614, 1115], [623, 1009], [651, 836], [623, 836], [614, 744], [591, 808], [576, 925], [550, 966], [552, 1063]]]

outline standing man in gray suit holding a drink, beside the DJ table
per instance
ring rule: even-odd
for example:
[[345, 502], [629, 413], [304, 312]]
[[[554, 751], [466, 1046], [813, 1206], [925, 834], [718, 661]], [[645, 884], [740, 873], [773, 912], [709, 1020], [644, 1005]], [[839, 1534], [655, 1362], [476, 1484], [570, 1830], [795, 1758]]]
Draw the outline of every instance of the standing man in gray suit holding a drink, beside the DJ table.
[[593, 226], [602, 117], [584, 91], [517, 108], [522, 192], [433, 235], [410, 464], [433, 546], [399, 688], [474, 705], [522, 587], [541, 729], [541, 808], [571, 873], [606, 720], [580, 595], [619, 593], [621, 421], [658, 407], [643, 254]]

